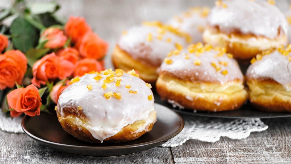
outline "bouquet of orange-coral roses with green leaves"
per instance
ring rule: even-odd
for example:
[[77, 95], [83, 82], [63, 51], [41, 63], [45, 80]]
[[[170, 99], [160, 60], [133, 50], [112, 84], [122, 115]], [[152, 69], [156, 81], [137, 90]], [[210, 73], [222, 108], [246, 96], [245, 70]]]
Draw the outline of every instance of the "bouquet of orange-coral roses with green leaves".
[[0, 11], [0, 100], [7, 116], [49, 112], [70, 78], [104, 69], [108, 44], [84, 18], [62, 21], [59, 8], [17, 0]]

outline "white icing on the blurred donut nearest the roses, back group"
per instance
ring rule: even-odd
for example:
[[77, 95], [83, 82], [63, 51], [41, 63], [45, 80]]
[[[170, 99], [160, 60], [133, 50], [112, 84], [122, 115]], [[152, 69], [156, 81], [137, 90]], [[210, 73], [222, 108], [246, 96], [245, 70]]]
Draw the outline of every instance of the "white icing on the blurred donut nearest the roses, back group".
[[[152, 41], [148, 41], [148, 34], [152, 34]], [[136, 26], [127, 30], [127, 34], [121, 36], [118, 46], [128, 53], [133, 59], [159, 67], [164, 57], [176, 49], [175, 43], [186, 46], [187, 42], [184, 37], [166, 32], [162, 35], [162, 40], [157, 39], [159, 36], [158, 27]], [[166, 39], [171, 38], [171, 42]]]

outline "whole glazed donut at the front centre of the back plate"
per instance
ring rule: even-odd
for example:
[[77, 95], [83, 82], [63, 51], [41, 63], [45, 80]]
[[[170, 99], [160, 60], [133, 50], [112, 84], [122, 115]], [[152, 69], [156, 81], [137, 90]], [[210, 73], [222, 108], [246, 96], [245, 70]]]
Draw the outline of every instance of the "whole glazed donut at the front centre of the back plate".
[[202, 43], [166, 57], [156, 89], [175, 106], [197, 111], [239, 108], [247, 98], [241, 70], [225, 48]]

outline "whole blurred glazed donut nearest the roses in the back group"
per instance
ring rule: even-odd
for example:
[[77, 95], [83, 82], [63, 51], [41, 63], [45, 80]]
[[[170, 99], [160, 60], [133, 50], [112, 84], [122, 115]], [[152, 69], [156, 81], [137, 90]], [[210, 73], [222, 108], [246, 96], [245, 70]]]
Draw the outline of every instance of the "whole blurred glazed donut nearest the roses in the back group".
[[144, 22], [142, 26], [125, 31], [112, 54], [113, 65], [123, 70], [134, 69], [140, 78], [155, 83], [157, 68], [164, 57], [176, 48], [185, 46], [191, 37], [161, 22]]

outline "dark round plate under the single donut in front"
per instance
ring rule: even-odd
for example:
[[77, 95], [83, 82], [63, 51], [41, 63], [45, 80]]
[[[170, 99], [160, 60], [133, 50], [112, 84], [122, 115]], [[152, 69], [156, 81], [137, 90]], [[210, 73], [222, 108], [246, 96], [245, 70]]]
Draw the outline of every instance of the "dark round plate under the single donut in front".
[[36, 142], [49, 148], [82, 156], [122, 156], [159, 146], [184, 128], [183, 119], [173, 110], [155, 104], [157, 122], [152, 131], [130, 142], [93, 144], [78, 140], [65, 132], [56, 114], [24, 116], [23, 131]]

